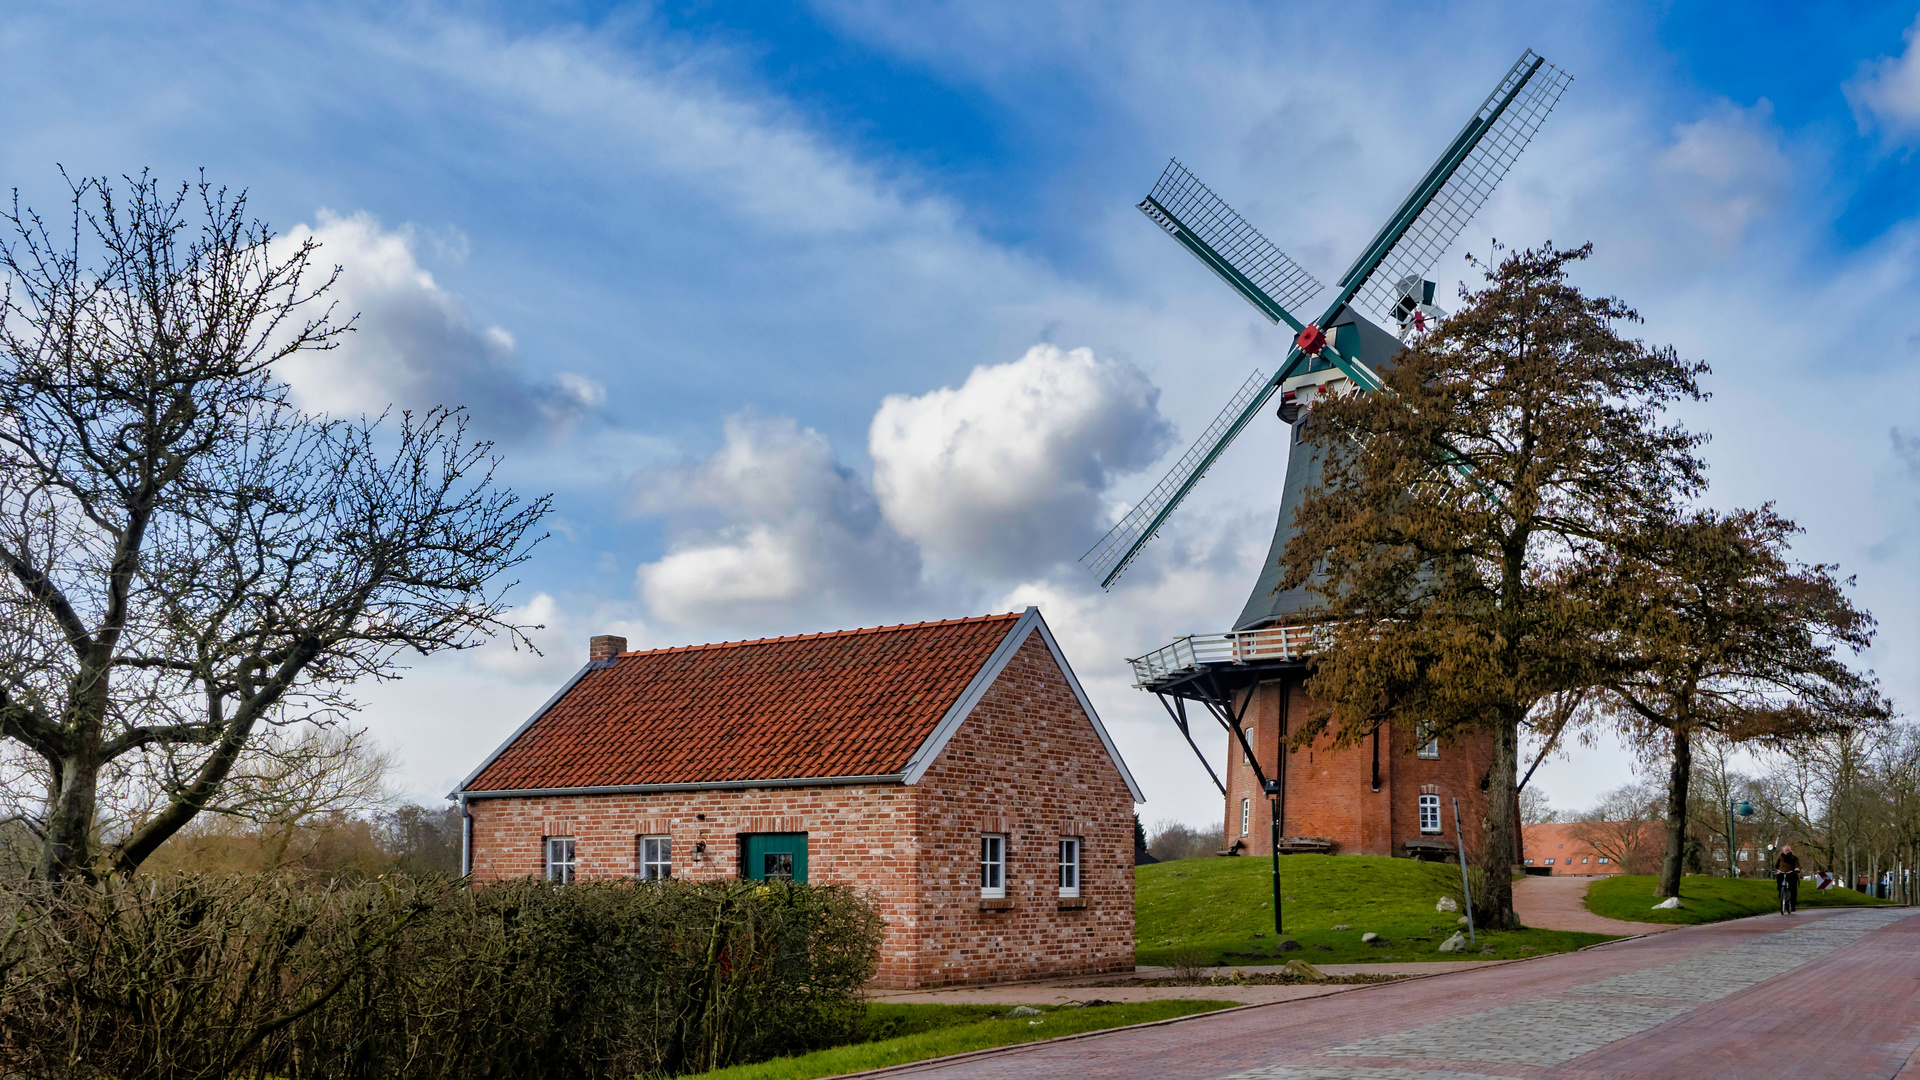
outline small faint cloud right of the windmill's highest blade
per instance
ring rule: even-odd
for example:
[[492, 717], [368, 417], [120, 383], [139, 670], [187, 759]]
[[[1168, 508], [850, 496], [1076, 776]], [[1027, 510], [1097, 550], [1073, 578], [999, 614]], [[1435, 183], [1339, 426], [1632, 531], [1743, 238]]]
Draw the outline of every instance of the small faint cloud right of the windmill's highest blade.
[[1772, 215], [1791, 181], [1774, 106], [1764, 98], [1753, 108], [1720, 102], [1697, 121], [1676, 125], [1655, 163], [1692, 223], [1722, 246]]

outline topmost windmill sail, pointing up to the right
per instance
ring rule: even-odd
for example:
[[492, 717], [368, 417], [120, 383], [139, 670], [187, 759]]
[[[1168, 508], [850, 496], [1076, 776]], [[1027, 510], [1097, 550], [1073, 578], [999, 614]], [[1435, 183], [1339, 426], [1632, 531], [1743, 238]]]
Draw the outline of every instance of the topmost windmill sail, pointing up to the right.
[[1340, 277], [1342, 296], [1352, 296], [1352, 304], [1379, 323], [1394, 325], [1398, 282], [1427, 277], [1440, 261], [1526, 150], [1569, 83], [1571, 75], [1526, 50], [1432, 169], [1413, 184], [1367, 252]]

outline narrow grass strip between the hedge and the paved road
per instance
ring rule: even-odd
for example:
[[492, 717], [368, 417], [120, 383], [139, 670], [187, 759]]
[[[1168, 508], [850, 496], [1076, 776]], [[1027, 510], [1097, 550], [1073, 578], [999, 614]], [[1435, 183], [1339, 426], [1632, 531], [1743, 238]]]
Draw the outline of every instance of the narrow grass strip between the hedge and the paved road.
[[1043, 1005], [1039, 1017], [1018, 1019], [1006, 1017], [1010, 1005], [872, 1005], [854, 1045], [701, 1072], [699, 1080], [812, 1080], [995, 1045], [1171, 1020], [1233, 1005], [1235, 1001], [1137, 1001], [1085, 1009]]

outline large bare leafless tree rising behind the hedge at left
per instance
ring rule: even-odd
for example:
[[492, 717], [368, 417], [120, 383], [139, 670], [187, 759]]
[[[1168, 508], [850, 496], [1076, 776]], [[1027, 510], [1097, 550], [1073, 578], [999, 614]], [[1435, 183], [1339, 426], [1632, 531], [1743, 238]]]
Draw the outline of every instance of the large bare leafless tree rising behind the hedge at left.
[[[263, 726], [518, 636], [503, 575], [549, 502], [495, 488], [459, 411], [303, 415], [273, 365], [351, 325], [315, 244], [276, 256], [244, 194], [127, 184], [73, 183], [60, 229], [15, 196], [0, 240], [0, 736], [44, 763], [48, 878], [134, 871]], [[161, 803], [102, 838], [102, 778], [154, 753]]]

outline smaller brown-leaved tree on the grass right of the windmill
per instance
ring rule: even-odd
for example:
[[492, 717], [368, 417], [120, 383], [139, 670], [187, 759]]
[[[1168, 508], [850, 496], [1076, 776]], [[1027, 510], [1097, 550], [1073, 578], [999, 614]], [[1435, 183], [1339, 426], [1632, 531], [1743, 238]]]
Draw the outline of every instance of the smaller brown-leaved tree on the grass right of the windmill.
[[1647, 523], [1601, 569], [1624, 626], [1603, 711], [1668, 759], [1659, 896], [1680, 896], [1695, 740], [1791, 744], [1891, 719], [1874, 680], [1839, 655], [1872, 644], [1874, 619], [1834, 567], [1789, 557], [1793, 532], [1770, 505], [1697, 511]]

